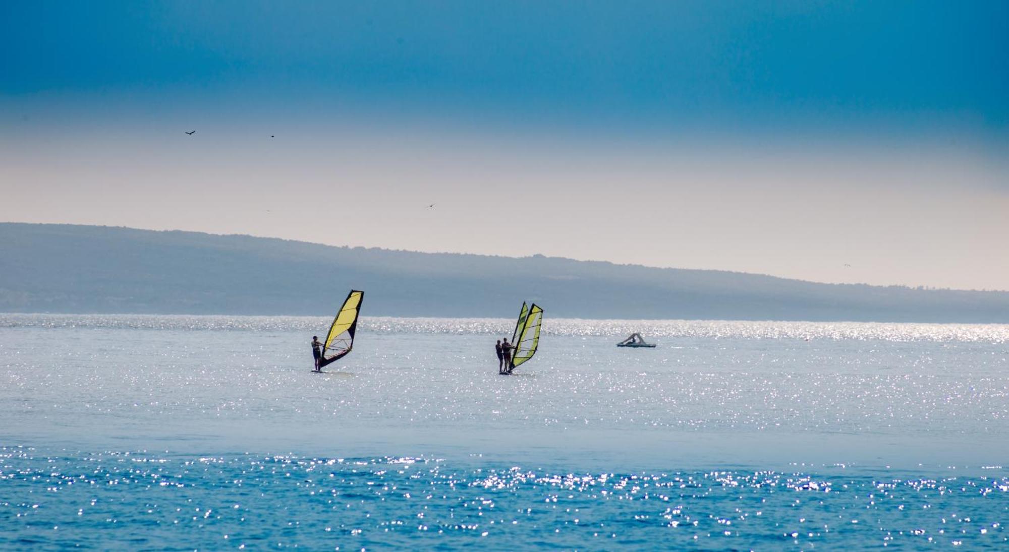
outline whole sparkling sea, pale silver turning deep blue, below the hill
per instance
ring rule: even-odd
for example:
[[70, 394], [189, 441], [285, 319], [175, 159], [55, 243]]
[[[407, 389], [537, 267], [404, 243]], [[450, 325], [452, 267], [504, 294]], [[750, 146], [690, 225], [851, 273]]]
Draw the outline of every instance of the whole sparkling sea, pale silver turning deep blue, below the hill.
[[547, 314], [0, 314], [0, 549], [1009, 550], [1009, 325]]

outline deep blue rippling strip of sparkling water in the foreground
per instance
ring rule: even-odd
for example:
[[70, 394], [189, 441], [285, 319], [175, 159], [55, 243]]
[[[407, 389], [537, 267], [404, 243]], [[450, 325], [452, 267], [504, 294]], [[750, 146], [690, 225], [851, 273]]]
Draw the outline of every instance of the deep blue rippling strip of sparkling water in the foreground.
[[[480, 466], [480, 467], [477, 467]], [[6, 546], [1005, 546], [1006, 475], [573, 472], [0, 448]], [[114, 530], [114, 533], [111, 532]]]

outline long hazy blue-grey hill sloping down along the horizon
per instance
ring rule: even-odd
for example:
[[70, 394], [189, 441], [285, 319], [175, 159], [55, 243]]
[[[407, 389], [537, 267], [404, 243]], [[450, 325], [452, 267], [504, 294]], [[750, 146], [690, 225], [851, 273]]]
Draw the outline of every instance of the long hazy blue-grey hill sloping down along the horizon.
[[1009, 292], [820, 284], [713, 270], [330, 247], [249, 236], [0, 224], [0, 311], [364, 313], [1009, 322]]

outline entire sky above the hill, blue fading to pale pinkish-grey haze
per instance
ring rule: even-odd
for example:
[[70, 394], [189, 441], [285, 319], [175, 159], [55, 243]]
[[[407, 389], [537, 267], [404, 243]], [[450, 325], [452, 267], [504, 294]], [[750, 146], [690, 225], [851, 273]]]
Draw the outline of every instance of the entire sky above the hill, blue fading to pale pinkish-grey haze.
[[1007, 2], [9, 1], [0, 51], [0, 221], [1009, 289]]

